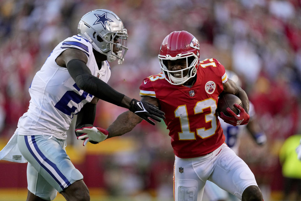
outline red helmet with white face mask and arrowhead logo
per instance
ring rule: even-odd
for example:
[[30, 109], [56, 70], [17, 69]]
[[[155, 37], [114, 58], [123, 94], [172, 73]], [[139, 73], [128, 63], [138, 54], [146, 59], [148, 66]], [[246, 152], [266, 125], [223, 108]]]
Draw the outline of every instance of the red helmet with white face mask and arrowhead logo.
[[[188, 79], [197, 73], [200, 57], [200, 44], [198, 40], [187, 31], [174, 31], [163, 40], [158, 55], [161, 70], [165, 74], [165, 79], [174, 85], [184, 84]], [[167, 60], [177, 60], [186, 58], [186, 68], [170, 71], [167, 68]], [[187, 75], [183, 75], [189, 69]], [[181, 78], [176, 78], [172, 74], [181, 73]]]

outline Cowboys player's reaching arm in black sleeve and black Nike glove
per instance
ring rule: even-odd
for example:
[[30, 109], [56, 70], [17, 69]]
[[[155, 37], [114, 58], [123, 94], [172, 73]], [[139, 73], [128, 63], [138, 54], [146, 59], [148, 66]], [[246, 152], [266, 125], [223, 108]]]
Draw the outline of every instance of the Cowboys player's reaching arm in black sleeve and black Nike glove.
[[164, 119], [164, 112], [152, 104], [129, 98], [93, 76], [86, 65], [87, 56], [84, 52], [77, 49], [67, 49], [56, 59], [56, 62], [62, 67], [66, 66], [77, 86], [87, 93], [114, 105], [128, 108], [150, 124], [155, 125], [149, 118], [158, 122], [161, 121], [160, 118]]

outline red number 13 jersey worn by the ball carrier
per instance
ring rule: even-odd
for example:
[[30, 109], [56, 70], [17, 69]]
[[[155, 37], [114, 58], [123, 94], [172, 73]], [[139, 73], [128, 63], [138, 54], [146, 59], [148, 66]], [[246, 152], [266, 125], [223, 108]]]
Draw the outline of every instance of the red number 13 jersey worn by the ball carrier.
[[225, 140], [215, 114], [218, 95], [228, 80], [225, 68], [216, 59], [205, 59], [196, 76], [191, 88], [168, 83], [163, 73], [145, 78], [140, 85], [140, 96], [159, 100], [172, 148], [180, 158], [206, 155]]

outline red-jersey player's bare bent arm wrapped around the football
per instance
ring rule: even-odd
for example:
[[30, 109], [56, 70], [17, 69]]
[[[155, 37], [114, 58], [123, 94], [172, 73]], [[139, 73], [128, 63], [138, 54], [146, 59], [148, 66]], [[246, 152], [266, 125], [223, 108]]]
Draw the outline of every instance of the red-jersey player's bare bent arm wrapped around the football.
[[246, 113], [249, 114], [249, 98], [246, 94], [246, 92], [241, 89], [237, 84], [235, 84], [235, 82], [231, 79], [228, 79], [228, 81], [223, 84], [224, 90], [223, 92], [220, 94], [222, 95], [223, 93], [229, 93], [229, 94], [234, 94], [237, 97], [240, 98], [241, 102], [242, 102], [242, 107], [245, 109]]

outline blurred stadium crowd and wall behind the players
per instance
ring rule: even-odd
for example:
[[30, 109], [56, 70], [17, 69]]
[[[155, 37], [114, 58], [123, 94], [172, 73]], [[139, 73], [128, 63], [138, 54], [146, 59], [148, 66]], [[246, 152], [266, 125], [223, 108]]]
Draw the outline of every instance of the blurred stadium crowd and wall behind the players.
[[[81, 16], [99, 8], [116, 13], [128, 30], [129, 51], [122, 65], [111, 63], [109, 84], [130, 97], [139, 99], [142, 79], [160, 72], [161, 41], [174, 30], [197, 37], [201, 59], [214, 57], [240, 76], [268, 138], [258, 147], [243, 134], [240, 157], [254, 172], [265, 201], [280, 200], [278, 152], [300, 131], [299, 0], [2, 0], [0, 149], [28, 109], [35, 72], [60, 41], [77, 33]], [[104, 101], [97, 110], [95, 125], [103, 128], [126, 111]], [[73, 128], [67, 154], [83, 173], [92, 201], [172, 200], [174, 155], [164, 124], [142, 122], [124, 136], [87, 147], [76, 140]], [[26, 164], [0, 161], [0, 200], [25, 197]]]

